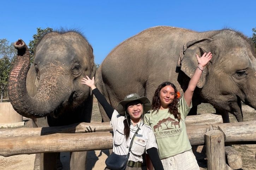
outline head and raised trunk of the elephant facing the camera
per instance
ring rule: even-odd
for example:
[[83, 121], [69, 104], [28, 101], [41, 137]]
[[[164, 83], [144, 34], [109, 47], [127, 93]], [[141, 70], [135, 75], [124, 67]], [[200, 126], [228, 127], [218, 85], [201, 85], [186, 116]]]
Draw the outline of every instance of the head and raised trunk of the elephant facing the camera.
[[93, 49], [77, 32], [50, 32], [36, 45], [29, 68], [29, 49], [14, 43], [17, 59], [10, 72], [8, 93], [13, 108], [29, 118], [58, 117], [68, 107], [88, 102], [90, 89], [81, 85], [85, 75], [95, 75]]

